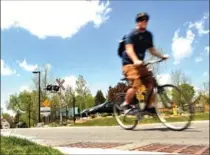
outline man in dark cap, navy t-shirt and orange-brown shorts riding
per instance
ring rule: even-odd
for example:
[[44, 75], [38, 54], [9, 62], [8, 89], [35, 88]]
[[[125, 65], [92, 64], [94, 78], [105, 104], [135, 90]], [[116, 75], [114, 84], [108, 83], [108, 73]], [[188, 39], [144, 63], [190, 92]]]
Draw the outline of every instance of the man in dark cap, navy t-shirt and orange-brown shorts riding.
[[[146, 87], [146, 96], [150, 96], [150, 100], [146, 101], [145, 111], [155, 113], [153, 105], [154, 95], [152, 94], [153, 77], [148, 76], [141, 81], [140, 77], [149, 74], [147, 67], [141, 66], [145, 58], [146, 50], [150, 54], [161, 59], [167, 59], [167, 55], [159, 53], [153, 45], [153, 35], [147, 30], [149, 15], [147, 13], [139, 13], [136, 16], [136, 28], [125, 35], [125, 51], [122, 53], [123, 74], [132, 85], [126, 92], [125, 101], [121, 105], [123, 109], [130, 108], [130, 103], [137, 91], [137, 88], [142, 84]], [[146, 97], [146, 98], [147, 98]]]

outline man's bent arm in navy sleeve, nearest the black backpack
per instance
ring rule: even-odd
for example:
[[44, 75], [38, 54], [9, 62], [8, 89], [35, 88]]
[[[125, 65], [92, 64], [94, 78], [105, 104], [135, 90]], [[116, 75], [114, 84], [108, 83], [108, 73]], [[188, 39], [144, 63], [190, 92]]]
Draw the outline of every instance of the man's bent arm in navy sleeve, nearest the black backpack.
[[125, 37], [125, 51], [133, 62], [139, 60], [134, 52], [132, 34], [126, 35]]

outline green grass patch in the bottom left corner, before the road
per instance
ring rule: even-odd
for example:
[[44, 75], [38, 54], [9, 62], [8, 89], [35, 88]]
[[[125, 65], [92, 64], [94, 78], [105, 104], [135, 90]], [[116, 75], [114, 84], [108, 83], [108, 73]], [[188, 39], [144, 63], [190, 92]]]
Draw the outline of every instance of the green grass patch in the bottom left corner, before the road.
[[9, 155], [61, 155], [56, 149], [41, 146], [34, 142], [16, 137], [1, 136], [1, 154]]

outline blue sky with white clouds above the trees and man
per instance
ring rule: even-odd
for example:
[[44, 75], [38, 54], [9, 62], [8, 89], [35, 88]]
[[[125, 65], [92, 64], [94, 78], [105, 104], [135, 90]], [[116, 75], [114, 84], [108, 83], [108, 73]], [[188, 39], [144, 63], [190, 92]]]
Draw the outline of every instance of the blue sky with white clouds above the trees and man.
[[162, 82], [172, 69], [185, 72], [197, 88], [209, 78], [208, 1], [3, 1], [1, 7], [3, 106], [9, 94], [32, 89], [32, 70], [45, 64], [66, 85], [83, 75], [94, 95], [106, 92], [122, 77], [117, 41], [142, 11], [151, 16], [155, 45], [170, 56], [158, 75]]

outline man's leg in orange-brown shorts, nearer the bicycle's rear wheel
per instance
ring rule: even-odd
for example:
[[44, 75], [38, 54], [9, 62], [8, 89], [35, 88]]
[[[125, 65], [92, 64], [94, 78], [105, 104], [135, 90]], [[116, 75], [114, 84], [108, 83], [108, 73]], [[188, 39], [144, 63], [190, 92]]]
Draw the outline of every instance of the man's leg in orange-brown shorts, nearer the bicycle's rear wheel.
[[131, 85], [131, 88], [129, 88], [126, 92], [125, 102], [122, 104], [122, 106], [126, 106], [132, 102], [132, 99], [136, 94], [137, 88], [141, 85], [141, 82], [139, 80], [139, 70], [134, 65], [123, 66], [123, 73]]

